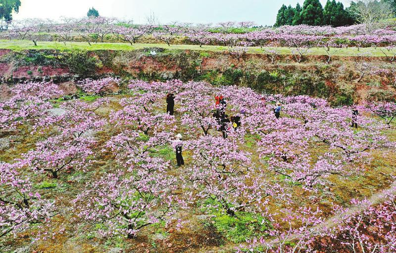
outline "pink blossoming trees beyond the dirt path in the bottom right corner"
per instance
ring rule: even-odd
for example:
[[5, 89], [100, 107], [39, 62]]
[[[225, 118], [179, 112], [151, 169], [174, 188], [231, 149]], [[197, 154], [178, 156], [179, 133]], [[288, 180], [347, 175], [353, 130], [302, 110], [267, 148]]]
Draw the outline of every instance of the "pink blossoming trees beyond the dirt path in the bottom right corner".
[[319, 209], [284, 210], [282, 222], [288, 227], [280, 231], [280, 224], [275, 223], [269, 232], [275, 239], [255, 238], [241, 245], [237, 252], [395, 252], [395, 188], [381, 197], [384, 202], [377, 206], [368, 200], [352, 200], [356, 211], [335, 207], [334, 218], [329, 222], [323, 220]]

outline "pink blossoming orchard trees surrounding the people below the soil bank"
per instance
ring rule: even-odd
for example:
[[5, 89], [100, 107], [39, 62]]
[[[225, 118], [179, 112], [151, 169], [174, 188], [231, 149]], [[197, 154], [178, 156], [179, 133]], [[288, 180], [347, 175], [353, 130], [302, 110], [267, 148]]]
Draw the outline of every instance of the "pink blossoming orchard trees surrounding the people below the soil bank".
[[[104, 96], [106, 87], [118, 82], [85, 80], [78, 85]], [[395, 148], [383, 130], [386, 123], [391, 126], [389, 118], [396, 111], [386, 106], [384, 114], [380, 103], [367, 104], [367, 111], [382, 115], [386, 123], [362, 115], [352, 119], [351, 108], [332, 108], [323, 99], [261, 95], [236, 86], [174, 80], [133, 81], [128, 87], [131, 95], [119, 100], [108, 117], [100, 112], [110, 102], [106, 98], [92, 103], [71, 100], [54, 110], [50, 100], [62, 92], [51, 83], [16, 85], [14, 96], [0, 102], [1, 130], [25, 125], [42, 136], [19, 159], [0, 163], [1, 236], [47, 222], [57, 213], [56, 202], [43, 199], [31, 187], [32, 172], [62, 180], [64, 171], [94, 169], [102, 153], [112, 154], [113, 169], [75, 196], [76, 214], [102, 224], [102, 236], [133, 238], [162, 220], [180, 224], [178, 210], [209, 200], [204, 211], [268, 216], [269, 205], [288, 205], [291, 185], [315, 192], [330, 186], [330, 175], [347, 178], [360, 173], [372, 150]], [[163, 109], [168, 93], [175, 94], [176, 116]], [[213, 97], [218, 94], [227, 99], [227, 114], [242, 118], [241, 127], [225, 127], [227, 139], [217, 131], [220, 126], [213, 117]], [[284, 104], [280, 119], [273, 114], [274, 102]], [[352, 122], [359, 125], [357, 130], [350, 127]], [[183, 173], [169, 158], [154, 155], [160, 147], [176, 145], [173, 136], [180, 129], [185, 129], [184, 149], [191, 153]], [[108, 138], [99, 141], [99, 131], [107, 132]], [[257, 154], [243, 148], [250, 135], [257, 136]], [[319, 155], [316, 146], [321, 147]], [[285, 180], [271, 179], [278, 175]], [[319, 212], [305, 209], [297, 218], [309, 229], [322, 222], [315, 215]], [[282, 231], [275, 226], [271, 235], [279, 237]]]

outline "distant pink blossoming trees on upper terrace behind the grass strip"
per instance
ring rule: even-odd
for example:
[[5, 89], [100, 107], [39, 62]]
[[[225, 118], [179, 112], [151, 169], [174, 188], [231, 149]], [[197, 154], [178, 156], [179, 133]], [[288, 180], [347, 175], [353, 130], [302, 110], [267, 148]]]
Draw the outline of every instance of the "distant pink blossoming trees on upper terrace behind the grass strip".
[[112, 41], [131, 44], [143, 36], [152, 36], [168, 45], [179, 36], [200, 46], [204, 44], [233, 46], [236, 42], [245, 42], [255, 46], [298, 47], [297, 45], [318, 46], [318, 43], [322, 43], [328, 47], [369, 47], [393, 46], [396, 42], [394, 30], [380, 29], [366, 34], [364, 24], [338, 28], [299, 25], [249, 30], [247, 28], [252, 26], [249, 22], [241, 23], [243, 24], [240, 26], [245, 27], [245, 33], [233, 33], [234, 22], [221, 23], [217, 26], [202, 24], [194, 26], [181, 23], [135, 25], [132, 21], [118, 21], [109, 17], [63, 18], [60, 22], [26, 19], [12, 21], [9, 29], [1, 36], [9, 39], [32, 40], [35, 45], [40, 40], [57, 40], [63, 43], [83, 40], [91, 44], [104, 42], [109, 35], [114, 35]]

